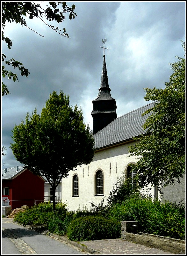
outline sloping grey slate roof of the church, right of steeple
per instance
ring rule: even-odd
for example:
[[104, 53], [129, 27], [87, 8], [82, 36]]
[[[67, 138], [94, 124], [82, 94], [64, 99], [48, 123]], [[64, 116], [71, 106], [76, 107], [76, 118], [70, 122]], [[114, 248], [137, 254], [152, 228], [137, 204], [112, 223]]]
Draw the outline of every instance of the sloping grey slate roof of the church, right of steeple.
[[109, 146], [131, 140], [135, 136], [146, 133], [142, 126], [148, 116], [142, 114], [154, 106], [156, 101], [151, 102], [141, 108], [137, 108], [123, 116], [114, 119], [102, 130], [94, 134], [95, 148], [102, 149]]

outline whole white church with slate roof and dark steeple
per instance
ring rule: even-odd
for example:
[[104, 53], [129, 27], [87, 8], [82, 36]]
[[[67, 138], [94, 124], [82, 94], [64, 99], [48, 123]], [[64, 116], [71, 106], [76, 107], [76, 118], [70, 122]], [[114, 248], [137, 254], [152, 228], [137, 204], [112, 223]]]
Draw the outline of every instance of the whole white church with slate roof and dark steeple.
[[[87, 208], [90, 210], [91, 202], [104, 204], [118, 177], [131, 178], [132, 187], [136, 186], [131, 172], [130, 164], [136, 164], [136, 158], [129, 156], [128, 147], [137, 143], [133, 137], [146, 133], [142, 126], [148, 116], [142, 114], [153, 107], [155, 102], [135, 109], [123, 116], [117, 117], [116, 100], [111, 97], [111, 89], [108, 83], [105, 55], [103, 56], [101, 84], [98, 95], [92, 100], [93, 110], [93, 137], [95, 140], [95, 155], [88, 165], [77, 166], [75, 171], [70, 171], [68, 177], [62, 178], [56, 188], [57, 201], [68, 204], [69, 211]], [[185, 175], [182, 184], [168, 186], [163, 189], [163, 195], [159, 197], [156, 187], [142, 190], [142, 193], [151, 193], [153, 199], [158, 198], [162, 202], [169, 200], [179, 203], [185, 202]], [[50, 199], [52, 190], [45, 184], [45, 197]]]

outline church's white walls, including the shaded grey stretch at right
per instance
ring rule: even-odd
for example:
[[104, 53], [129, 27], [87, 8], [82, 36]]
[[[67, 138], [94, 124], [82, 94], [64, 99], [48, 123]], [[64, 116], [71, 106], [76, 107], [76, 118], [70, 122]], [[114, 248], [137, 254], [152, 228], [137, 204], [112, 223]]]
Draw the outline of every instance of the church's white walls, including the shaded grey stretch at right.
[[[63, 178], [61, 183], [56, 189], [57, 199], [68, 204], [69, 211], [76, 211], [77, 209], [87, 208], [90, 210], [90, 202], [99, 204], [103, 197], [104, 204], [109, 196], [118, 177], [126, 173], [126, 168], [130, 163], [136, 163], [137, 159], [134, 156], [129, 157], [128, 146], [133, 145], [125, 144], [115, 148], [99, 151], [95, 154], [92, 162], [88, 165], [81, 165], [76, 168], [76, 171], [70, 171], [67, 178]], [[95, 174], [97, 170], [102, 170], [103, 190], [104, 195], [95, 195]], [[73, 176], [78, 176], [78, 196], [72, 196], [73, 192]], [[144, 194], [152, 194], [154, 199], [155, 194], [158, 194], [158, 199], [163, 203], [165, 200], [170, 202], [181, 201], [185, 202], [185, 175], [181, 180], [182, 184], [168, 186], [163, 189], [163, 195], [160, 197], [159, 193], [155, 191], [154, 187], [144, 188], [141, 192]], [[45, 184], [45, 195], [49, 195], [49, 184]]]

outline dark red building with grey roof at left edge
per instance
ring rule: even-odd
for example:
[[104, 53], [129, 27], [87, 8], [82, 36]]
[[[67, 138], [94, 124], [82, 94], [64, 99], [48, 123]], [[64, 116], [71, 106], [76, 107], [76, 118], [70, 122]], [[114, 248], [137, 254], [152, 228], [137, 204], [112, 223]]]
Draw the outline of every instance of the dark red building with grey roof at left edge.
[[44, 202], [45, 181], [24, 166], [5, 168], [2, 170], [2, 197], [8, 196], [12, 210]]

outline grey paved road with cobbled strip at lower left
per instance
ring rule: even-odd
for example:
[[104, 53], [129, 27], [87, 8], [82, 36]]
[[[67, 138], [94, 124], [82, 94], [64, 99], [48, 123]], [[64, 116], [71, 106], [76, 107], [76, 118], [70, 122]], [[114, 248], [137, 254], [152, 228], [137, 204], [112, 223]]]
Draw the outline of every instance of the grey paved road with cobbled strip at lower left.
[[2, 218], [1, 255], [15, 254], [90, 254], [64, 241], [43, 235]]

